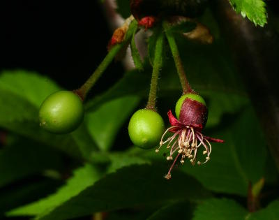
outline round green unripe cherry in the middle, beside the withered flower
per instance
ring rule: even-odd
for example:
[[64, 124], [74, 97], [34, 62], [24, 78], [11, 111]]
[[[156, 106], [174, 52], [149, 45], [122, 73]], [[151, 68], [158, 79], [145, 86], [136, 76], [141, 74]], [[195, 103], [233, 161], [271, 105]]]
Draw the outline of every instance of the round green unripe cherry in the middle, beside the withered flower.
[[162, 117], [153, 110], [137, 110], [131, 117], [128, 132], [133, 144], [149, 149], [156, 147], [164, 133], [165, 125]]

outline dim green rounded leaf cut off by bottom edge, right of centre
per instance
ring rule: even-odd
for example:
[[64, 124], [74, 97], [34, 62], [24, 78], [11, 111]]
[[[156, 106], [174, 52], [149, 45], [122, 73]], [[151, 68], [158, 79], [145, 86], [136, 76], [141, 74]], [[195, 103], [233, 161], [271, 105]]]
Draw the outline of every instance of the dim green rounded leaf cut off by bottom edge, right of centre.
[[234, 200], [212, 198], [197, 206], [193, 220], [241, 220], [247, 211]]

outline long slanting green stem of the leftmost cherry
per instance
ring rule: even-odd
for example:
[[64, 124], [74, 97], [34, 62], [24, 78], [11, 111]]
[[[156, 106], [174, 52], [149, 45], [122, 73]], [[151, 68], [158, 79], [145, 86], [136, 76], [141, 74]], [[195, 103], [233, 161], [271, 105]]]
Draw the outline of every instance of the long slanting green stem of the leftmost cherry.
[[107, 53], [107, 56], [103, 61], [100, 63], [98, 68], [96, 68], [96, 71], [91, 75], [91, 77], [86, 80], [84, 85], [80, 87], [80, 89], [75, 90], [75, 93], [78, 94], [82, 100], [86, 98], [86, 95], [90, 91], [90, 89], [93, 87], [93, 85], [96, 84], [97, 80], [100, 78], [100, 76], [104, 73], [104, 71], [107, 69], [107, 66], [110, 65], [110, 63], [113, 61], [116, 54], [119, 53], [119, 51], [127, 45], [127, 43], [130, 42], [133, 33], [135, 33], [135, 29], [137, 29], [137, 21], [133, 20], [133, 22], [130, 23], [129, 29], [126, 32], [125, 40], [122, 43], [114, 45], [110, 52]]

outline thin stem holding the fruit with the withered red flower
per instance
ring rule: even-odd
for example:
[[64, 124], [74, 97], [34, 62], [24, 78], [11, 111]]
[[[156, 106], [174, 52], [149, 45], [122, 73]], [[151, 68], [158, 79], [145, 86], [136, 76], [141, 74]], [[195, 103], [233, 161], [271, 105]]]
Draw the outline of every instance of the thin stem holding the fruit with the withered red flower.
[[179, 74], [179, 80], [181, 82], [181, 87], [183, 89], [183, 94], [193, 92], [190, 84], [186, 78], [186, 73], [179, 55], [179, 49], [176, 45], [174, 35], [171, 31], [168, 31], [168, 24], [164, 22], [163, 27], [165, 29], [165, 35], [167, 36], [167, 41], [169, 42], [170, 50], [172, 51], [172, 57], [174, 57], [174, 63], [176, 66], [177, 73]]

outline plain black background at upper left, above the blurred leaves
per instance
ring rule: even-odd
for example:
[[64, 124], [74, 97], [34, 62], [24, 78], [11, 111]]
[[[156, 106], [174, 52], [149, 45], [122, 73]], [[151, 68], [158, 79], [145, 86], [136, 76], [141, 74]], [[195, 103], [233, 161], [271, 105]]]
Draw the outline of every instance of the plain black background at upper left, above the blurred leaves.
[[[89, 78], [112, 34], [95, 0], [0, 1], [0, 28], [0, 71], [36, 71], [66, 89], [77, 89]], [[122, 75], [121, 64], [112, 66], [110, 77], [101, 78], [93, 92]]]

